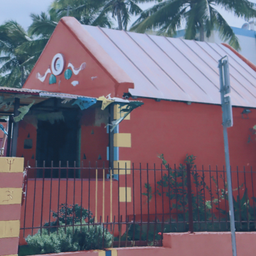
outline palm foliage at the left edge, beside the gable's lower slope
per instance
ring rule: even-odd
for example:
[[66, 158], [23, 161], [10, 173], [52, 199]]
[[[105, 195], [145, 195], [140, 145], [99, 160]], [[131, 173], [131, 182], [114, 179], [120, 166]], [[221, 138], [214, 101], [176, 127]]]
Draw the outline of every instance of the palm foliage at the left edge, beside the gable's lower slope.
[[[20, 51], [23, 44], [32, 45], [33, 38], [17, 22], [0, 26], [0, 85], [21, 88], [31, 71], [34, 56]], [[35, 45], [33, 49], [36, 49]]]

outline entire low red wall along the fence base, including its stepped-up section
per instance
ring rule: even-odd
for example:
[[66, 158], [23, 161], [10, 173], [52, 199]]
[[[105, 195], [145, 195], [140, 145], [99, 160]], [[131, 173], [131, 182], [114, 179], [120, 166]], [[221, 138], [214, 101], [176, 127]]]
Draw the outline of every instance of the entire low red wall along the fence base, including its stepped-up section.
[[[256, 255], [256, 232], [237, 232], [237, 255]], [[51, 254], [51, 256], [232, 256], [230, 232], [164, 234], [163, 247], [116, 248]]]

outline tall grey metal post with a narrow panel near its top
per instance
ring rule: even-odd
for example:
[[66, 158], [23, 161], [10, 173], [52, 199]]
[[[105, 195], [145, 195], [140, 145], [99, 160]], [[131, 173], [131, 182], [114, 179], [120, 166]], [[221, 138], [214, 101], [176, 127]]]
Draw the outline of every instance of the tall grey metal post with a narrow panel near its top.
[[236, 228], [235, 228], [235, 218], [234, 218], [232, 183], [231, 183], [231, 172], [230, 172], [229, 150], [228, 150], [228, 133], [227, 133], [227, 128], [233, 126], [231, 98], [230, 96], [227, 96], [227, 94], [230, 93], [230, 81], [229, 81], [229, 69], [228, 69], [227, 56], [219, 60], [218, 67], [220, 70], [220, 95], [221, 95], [222, 125], [223, 125], [225, 161], [226, 161], [227, 184], [228, 184], [228, 206], [229, 206], [229, 216], [230, 216], [232, 252], [233, 252], [233, 256], [237, 256]]

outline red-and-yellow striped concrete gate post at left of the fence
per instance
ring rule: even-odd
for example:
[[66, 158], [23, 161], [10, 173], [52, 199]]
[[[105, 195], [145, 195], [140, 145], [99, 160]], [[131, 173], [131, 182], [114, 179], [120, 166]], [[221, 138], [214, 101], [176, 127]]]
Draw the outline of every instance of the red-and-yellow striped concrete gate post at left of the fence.
[[0, 157], [0, 256], [18, 253], [24, 158]]

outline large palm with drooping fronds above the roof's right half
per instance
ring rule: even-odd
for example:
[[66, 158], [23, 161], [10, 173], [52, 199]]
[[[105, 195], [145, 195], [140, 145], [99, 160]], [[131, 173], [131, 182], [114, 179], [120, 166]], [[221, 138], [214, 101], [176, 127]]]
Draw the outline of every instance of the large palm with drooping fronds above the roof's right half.
[[[151, 1], [154, 0], [148, 0]], [[218, 29], [221, 39], [228, 40], [228, 44], [239, 50], [238, 38], [216, 7], [225, 8], [228, 12], [233, 12], [236, 17], [256, 17], [252, 3], [247, 0], [159, 0], [159, 2], [142, 12], [132, 24], [131, 30], [144, 33], [146, 29], [159, 29], [160, 33], [173, 36], [183, 22], [186, 22], [185, 39], [195, 39], [199, 31], [200, 41], [204, 41], [205, 32], [209, 37], [214, 29]]]

